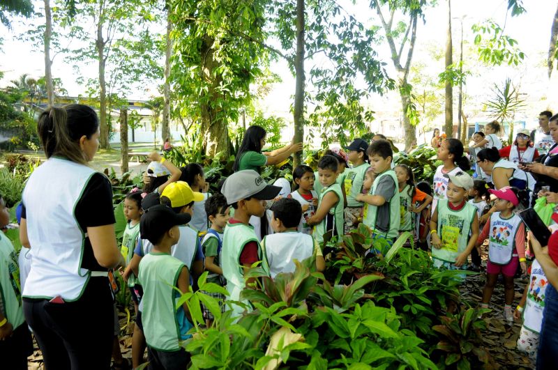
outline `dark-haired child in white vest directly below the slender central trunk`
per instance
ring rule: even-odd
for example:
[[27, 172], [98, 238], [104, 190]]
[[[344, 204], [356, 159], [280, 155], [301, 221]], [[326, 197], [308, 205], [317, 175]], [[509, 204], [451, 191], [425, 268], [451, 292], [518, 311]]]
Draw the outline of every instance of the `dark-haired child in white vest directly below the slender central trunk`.
[[301, 164], [294, 169], [292, 180], [296, 188], [288, 197], [301, 203], [302, 217], [299, 223], [299, 231], [310, 235], [312, 227], [308, 226], [308, 219], [315, 214], [318, 205], [318, 194], [312, 190], [315, 181], [314, 171], [305, 164]]

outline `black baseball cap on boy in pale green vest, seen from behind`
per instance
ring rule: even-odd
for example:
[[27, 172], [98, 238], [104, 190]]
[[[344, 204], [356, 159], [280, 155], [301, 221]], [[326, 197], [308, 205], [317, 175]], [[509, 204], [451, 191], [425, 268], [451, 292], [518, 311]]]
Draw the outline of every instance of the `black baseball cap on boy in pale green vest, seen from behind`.
[[140, 219], [140, 234], [142, 239], [157, 244], [164, 233], [174, 226], [188, 224], [190, 219], [189, 213], [175, 213], [162, 204], [151, 206]]

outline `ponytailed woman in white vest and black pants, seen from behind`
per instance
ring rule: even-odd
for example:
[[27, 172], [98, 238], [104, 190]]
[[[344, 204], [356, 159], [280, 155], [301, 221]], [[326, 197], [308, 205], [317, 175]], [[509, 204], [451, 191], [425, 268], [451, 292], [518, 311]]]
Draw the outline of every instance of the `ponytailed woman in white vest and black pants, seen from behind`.
[[52, 107], [40, 115], [38, 135], [47, 161], [22, 196], [20, 238], [32, 255], [25, 318], [47, 369], [108, 369], [114, 334], [108, 270], [124, 261], [110, 182], [87, 166], [99, 145], [97, 114], [85, 105]]

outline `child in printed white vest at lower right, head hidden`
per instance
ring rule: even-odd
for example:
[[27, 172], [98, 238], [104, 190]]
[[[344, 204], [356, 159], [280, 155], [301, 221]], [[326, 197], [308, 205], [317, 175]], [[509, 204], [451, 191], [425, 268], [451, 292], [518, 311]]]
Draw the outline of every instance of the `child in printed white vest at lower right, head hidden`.
[[[529, 284], [513, 316], [517, 319], [523, 316], [523, 325], [518, 338], [518, 350], [527, 353], [531, 360], [536, 361], [538, 349], [538, 334], [543, 324], [543, 309], [545, 307], [546, 287], [549, 282], [541, 264], [535, 259], [531, 265]], [[524, 311], [525, 309], [525, 311]]]

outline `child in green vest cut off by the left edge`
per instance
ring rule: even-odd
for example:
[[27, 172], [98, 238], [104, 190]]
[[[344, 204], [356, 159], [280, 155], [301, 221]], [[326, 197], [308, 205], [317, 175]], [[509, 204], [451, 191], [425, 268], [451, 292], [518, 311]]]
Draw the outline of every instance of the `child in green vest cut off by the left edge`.
[[[10, 222], [6, 203], [0, 196], [0, 226]], [[33, 353], [31, 333], [23, 316], [20, 268], [12, 242], [0, 231], [0, 353], [3, 369], [27, 369]]]

